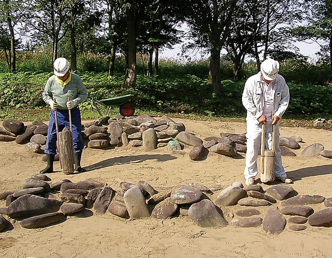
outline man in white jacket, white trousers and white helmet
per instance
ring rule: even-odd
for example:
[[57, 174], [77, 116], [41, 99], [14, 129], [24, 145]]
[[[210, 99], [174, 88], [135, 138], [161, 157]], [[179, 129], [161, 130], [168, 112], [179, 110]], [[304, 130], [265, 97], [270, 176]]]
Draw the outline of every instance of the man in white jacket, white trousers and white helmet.
[[247, 110], [244, 178], [246, 185], [254, 184], [258, 173], [257, 157], [261, 142], [261, 126], [265, 124], [265, 145], [272, 147], [272, 125], [276, 125], [275, 177], [283, 183], [292, 183], [281, 162], [279, 147], [279, 126], [289, 103], [289, 89], [282, 76], [278, 75], [279, 63], [266, 59], [260, 65], [260, 72], [251, 76], [244, 85], [242, 104]]

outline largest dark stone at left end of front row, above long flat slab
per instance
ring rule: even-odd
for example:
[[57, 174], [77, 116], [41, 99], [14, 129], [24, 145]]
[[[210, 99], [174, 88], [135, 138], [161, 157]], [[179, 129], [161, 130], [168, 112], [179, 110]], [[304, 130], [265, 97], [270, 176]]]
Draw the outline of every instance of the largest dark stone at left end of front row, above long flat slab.
[[25, 194], [9, 204], [6, 214], [12, 218], [29, 217], [58, 211], [61, 204], [59, 200]]

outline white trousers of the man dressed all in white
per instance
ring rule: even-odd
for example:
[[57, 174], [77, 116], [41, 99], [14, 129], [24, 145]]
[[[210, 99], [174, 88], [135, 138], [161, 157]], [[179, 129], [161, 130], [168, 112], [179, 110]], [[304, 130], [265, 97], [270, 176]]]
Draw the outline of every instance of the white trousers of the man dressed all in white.
[[[262, 123], [258, 125], [251, 121], [246, 121], [246, 156], [245, 156], [245, 168], [244, 168], [244, 178], [255, 178], [258, 173], [257, 169], [257, 157], [260, 149], [261, 142], [261, 126]], [[274, 174], [277, 177], [286, 176], [286, 172], [282, 166], [281, 161], [281, 150], [279, 147], [279, 124], [276, 126], [275, 134], [275, 170]], [[272, 149], [272, 124], [268, 121], [265, 125], [265, 147], [269, 150]]]

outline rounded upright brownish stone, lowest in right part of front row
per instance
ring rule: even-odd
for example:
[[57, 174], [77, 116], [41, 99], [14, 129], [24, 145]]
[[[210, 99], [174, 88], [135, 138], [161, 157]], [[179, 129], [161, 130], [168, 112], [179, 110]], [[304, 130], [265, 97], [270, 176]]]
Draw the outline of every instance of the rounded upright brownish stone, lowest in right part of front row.
[[263, 229], [267, 233], [278, 234], [286, 226], [286, 219], [280, 214], [276, 206], [268, 208], [263, 219]]

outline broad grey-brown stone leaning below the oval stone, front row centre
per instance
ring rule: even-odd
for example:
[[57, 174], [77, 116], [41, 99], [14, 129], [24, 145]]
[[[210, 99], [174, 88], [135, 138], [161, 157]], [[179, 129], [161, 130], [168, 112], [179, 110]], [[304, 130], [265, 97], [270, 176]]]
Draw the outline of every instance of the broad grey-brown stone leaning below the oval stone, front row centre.
[[188, 216], [200, 227], [227, 225], [227, 221], [217, 211], [214, 203], [208, 199], [191, 204]]

